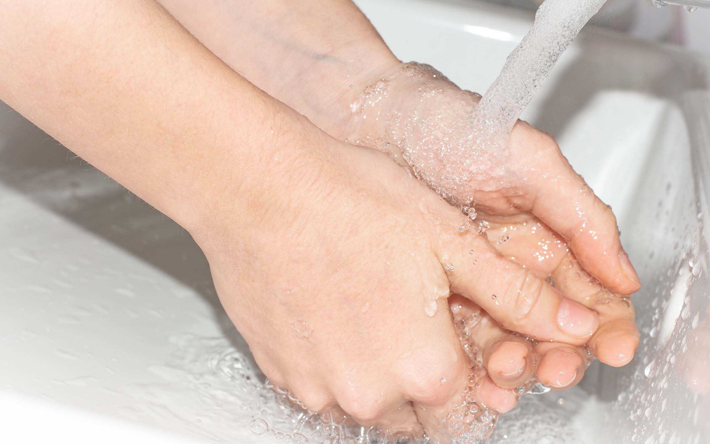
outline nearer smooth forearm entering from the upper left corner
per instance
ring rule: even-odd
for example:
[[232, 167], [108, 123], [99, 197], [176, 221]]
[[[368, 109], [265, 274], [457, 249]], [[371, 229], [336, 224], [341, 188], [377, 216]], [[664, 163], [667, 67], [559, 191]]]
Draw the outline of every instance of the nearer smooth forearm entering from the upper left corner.
[[2, 9], [0, 99], [188, 229], [298, 119], [152, 1]]

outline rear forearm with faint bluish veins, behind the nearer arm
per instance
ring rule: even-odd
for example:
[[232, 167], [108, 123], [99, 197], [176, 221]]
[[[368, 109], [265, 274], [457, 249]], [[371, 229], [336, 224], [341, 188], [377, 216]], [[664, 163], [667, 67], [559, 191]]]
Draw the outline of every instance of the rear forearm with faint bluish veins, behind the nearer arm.
[[364, 87], [398, 65], [350, 0], [160, 0], [246, 79], [329, 134]]

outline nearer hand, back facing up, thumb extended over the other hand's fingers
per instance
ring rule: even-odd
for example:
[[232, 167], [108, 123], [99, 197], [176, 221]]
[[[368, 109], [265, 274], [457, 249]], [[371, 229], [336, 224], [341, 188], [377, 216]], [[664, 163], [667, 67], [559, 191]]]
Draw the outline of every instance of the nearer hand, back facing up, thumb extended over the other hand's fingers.
[[[596, 330], [594, 312], [485, 236], [460, 233], [461, 213], [382, 153], [322, 133], [290, 146], [258, 186], [214, 197], [214, 214], [192, 234], [256, 362], [308, 408], [445, 435], [442, 421], [473, 398], [512, 407], [515, 396], [487, 377], [470, 386], [477, 369], [459, 344], [450, 291], [540, 340], [582, 345]], [[249, 210], [230, 210], [237, 198]]]

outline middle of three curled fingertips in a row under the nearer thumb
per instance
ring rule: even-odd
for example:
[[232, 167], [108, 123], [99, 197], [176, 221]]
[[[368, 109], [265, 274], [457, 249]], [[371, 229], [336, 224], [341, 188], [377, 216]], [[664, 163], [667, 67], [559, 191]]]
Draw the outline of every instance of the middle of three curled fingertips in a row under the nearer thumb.
[[536, 372], [542, 384], [555, 390], [569, 389], [584, 377], [589, 363], [584, 347], [540, 342], [535, 351], [540, 355]]

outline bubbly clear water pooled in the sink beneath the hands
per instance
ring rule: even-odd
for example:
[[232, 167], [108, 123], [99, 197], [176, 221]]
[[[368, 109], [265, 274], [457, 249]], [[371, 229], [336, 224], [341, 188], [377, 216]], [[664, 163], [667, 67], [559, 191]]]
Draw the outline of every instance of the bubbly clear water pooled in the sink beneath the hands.
[[[135, 414], [178, 417], [191, 434], [219, 442], [238, 442], [243, 438], [239, 431], [244, 428], [253, 433], [255, 442], [394, 442], [374, 428], [329, 421], [299, 406], [288, 393], [277, 393], [264, 381], [251, 357], [226, 337], [175, 335], [170, 343], [173, 352], [168, 362], [151, 367], [151, 372], [168, 384], [136, 388], [135, 395], [146, 401], [142, 406], [146, 411]], [[190, 402], [171, 403], [175, 390], [180, 390], [180, 397], [188, 396]], [[579, 388], [523, 396], [519, 406], [498, 421], [486, 442], [584, 444], [573, 420], [580, 412], [594, 411], [595, 405], [594, 398]], [[200, 412], [199, 416], [195, 412]], [[220, 431], [219, 436], [214, 431]]]

